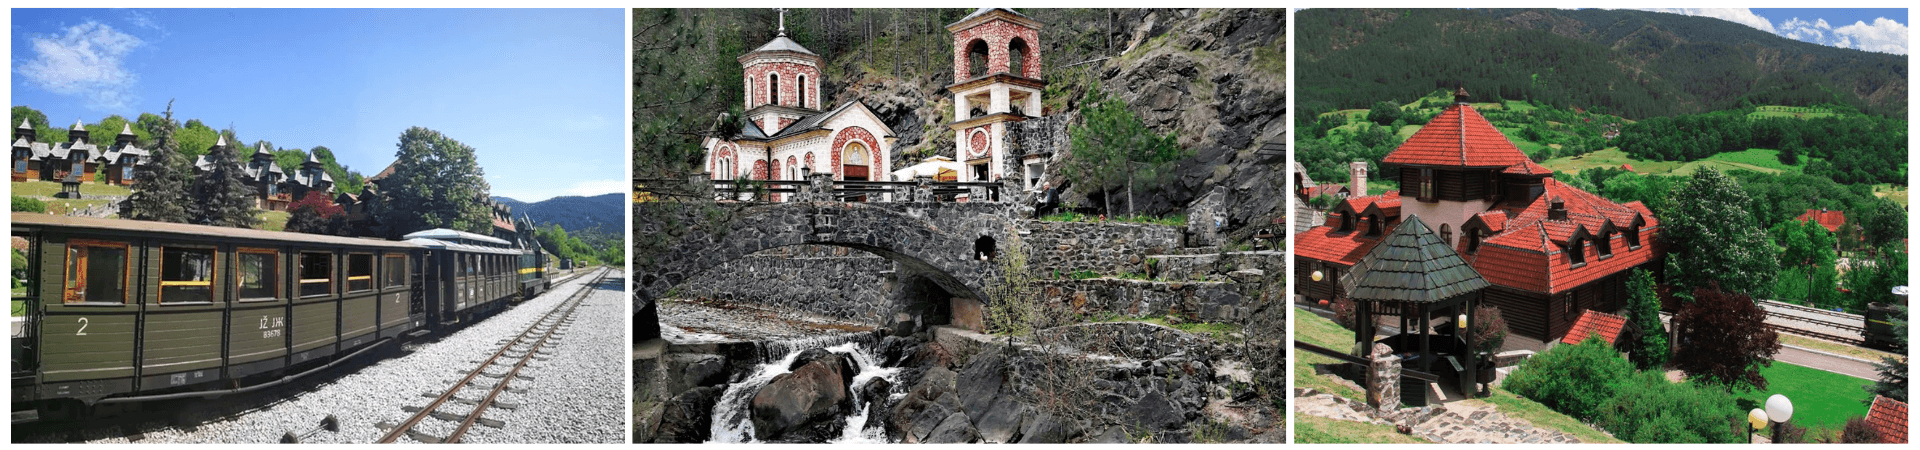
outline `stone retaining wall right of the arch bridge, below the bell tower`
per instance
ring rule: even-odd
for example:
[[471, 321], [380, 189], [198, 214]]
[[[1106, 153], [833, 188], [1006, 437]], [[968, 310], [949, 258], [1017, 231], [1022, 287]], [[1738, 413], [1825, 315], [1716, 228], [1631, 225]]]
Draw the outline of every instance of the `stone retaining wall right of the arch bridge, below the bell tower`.
[[1031, 231], [1021, 237], [1029, 271], [1146, 273], [1146, 256], [1173, 252], [1183, 240], [1179, 229], [1165, 225], [1066, 221], [1023, 225]]

